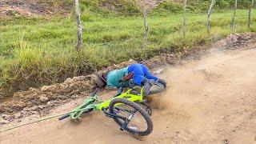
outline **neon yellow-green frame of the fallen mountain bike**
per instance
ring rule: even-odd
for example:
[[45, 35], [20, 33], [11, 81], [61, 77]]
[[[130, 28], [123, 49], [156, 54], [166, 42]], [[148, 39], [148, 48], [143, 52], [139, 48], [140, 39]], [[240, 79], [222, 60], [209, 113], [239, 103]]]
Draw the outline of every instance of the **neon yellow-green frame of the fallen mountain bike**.
[[[142, 96], [142, 91], [143, 88], [141, 89], [140, 94], [131, 94], [131, 91], [134, 89], [127, 90], [125, 93], [122, 93], [118, 95], [117, 97], [114, 98], [126, 98], [131, 102], [142, 102], [143, 101], [143, 96]], [[104, 108], [108, 108], [110, 106], [110, 102], [114, 99], [111, 98], [109, 100], [106, 100], [102, 102], [99, 98], [98, 95], [95, 94], [94, 96], [90, 98], [86, 98], [85, 102], [82, 103], [81, 106], [78, 106], [76, 109], [72, 110], [70, 112], [70, 118], [71, 119], [77, 119], [79, 118], [83, 113], [90, 112], [92, 110], [103, 110]]]

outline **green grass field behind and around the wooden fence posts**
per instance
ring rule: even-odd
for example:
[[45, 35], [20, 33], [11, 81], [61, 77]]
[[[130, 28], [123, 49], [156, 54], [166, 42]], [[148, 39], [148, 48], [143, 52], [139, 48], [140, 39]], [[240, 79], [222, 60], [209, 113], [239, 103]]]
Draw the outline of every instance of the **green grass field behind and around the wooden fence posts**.
[[[238, 10], [236, 32], [256, 30], [254, 17], [252, 28], [247, 28], [247, 13]], [[231, 17], [232, 11], [214, 12], [208, 35], [206, 14], [187, 14], [186, 47], [193, 49], [234, 33]], [[183, 47], [182, 14], [151, 14], [149, 48], [143, 50], [142, 16], [84, 12], [84, 47], [80, 54], [74, 51], [77, 30], [74, 18], [0, 20], [0, 87], [10, 90], [62, 82], [130, 58], [142, 60], [159, 51], [179, 52]]]

